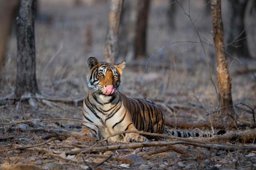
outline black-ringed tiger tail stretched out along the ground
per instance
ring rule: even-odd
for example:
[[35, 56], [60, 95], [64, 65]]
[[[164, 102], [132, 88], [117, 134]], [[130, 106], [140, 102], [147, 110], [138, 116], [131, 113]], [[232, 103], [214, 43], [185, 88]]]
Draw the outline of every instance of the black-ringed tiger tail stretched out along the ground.
[[180, 132], [180, 131], [171, 131], [168, 129], [165, 129], [165, 132], [171, 136], [176, 136], [176, 137], [212, 137], [215, 135], [223, 135], [226, 133], [225, 130], [220, 130], [219, 132], [212, 134], [212, 133], [197, 133], [197, 132]]

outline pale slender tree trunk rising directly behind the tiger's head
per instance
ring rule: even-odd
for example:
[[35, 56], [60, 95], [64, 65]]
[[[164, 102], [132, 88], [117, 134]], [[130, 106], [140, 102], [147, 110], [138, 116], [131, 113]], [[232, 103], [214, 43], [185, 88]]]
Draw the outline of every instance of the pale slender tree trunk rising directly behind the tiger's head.
[[118, 56], [119, 23], [123, 0], [111, 0], [104, 60], [114, 63]]

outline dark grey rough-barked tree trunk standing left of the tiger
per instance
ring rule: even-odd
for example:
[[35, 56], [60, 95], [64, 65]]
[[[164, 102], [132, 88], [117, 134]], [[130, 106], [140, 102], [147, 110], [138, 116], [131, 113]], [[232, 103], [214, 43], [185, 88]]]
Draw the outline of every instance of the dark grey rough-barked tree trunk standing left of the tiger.
[[17, 82], [15, 95], [39, 93], [35, 74], [35, 1], [21, 0], [17, 23]]

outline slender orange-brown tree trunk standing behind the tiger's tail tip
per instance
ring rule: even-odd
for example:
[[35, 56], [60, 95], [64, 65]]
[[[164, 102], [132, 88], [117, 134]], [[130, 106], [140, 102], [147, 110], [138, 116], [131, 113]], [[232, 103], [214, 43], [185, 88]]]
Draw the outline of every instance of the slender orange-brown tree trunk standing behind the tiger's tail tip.
[[[211, 16], [213, 24], [213, 40], [215, 45], [217, 60], [217, 81], [219, 89], [219, 102], [221, 109], [221, 117], [227, 114], [236, 118], [233, 108], [231, 94], [231, 78], [228, 73], [228, 61], [224, 54], [223, 43], [223, 22], [221, 18], [221, 0], [211, 0]], [[230, 116], [226, 116], [226, 120], [234, 123]]]

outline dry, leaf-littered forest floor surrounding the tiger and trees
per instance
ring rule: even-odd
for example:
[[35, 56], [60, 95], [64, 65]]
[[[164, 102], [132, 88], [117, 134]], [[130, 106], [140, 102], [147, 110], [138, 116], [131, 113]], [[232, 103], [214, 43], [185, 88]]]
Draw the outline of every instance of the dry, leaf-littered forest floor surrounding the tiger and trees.
[[[79, 3], [78, 3], [79, 2]], [[81, 100], [87, 92], [86, 76], [89, 71], [87, 59], [96, 56], [102, 60], [104, 40], [106, 36], [108, 1], [93, 0], [39, 0], [39, 14], [35, 24], [35, 41], [37, 57], [37, 81], [41, 94], [58, 99], [70, 99], [71, 102], [35, 99], [35, 106], [28, 101], [0, 101], [0, 122], [11, 123], [26, 119], [72, 118], [82, 119]], [[217, 94], [207, 67], [200, 43], [179, 43], [178, 41], [198, 41], [198, 36], [189, 18], [182, 9], [176, 14], [176, 29], [166, 24], [168, 0], [153, 0], [150, 8], [148, 25], [148, 55], [145, 60], [127, 62], [122, 75], [121, 92], [129, 97], [146, 98], [154, 101], [165, 111], [165, 116], [172, 122], [197, 124], [205, 122], [213, 116], [217, 109]], [[188, 10], [188, 5], [183, 4]], [[191, 18], [203, 35], [202, 40], [210, 43], [211, 17], [206, 13], [203, 0], [191, 3]], [[201, 10], [202, 9], [202, 10]], [[223, 3], [223, 20], [225, 21], [225, 3]], [[201, 12], [200, 12], [201, 11]], [[254, 70], [256, 75], [256, 20], [250, 20], [247, 14], [246, 23], [248, 44], [253, 59], [239, 59], [241, 63], [229, 60], [232, 78], [232, 97], [239, 118], [237, 124], [248, 127], [226, 129], [227, 134], [250, 130], [253, 125], [252, 110], [256, 106], [256, 79], [246, 68]], [[86, 30], [91, 27], [92, 45], [88, 45]], [[14, 28], [15, 30], [15, 28]], [[169, 42], [176, 42], [165, 45]], [[15, 31], [11, 34], [6, 64], [0, 81], [0, 97], [12, 94], [16, 79], [16, 44]], [[211, 76], [217, 85], [215, 74], [214, 48], [204, 45], [208, 54]], [[150, 60], [149, 60], [150, 59]], [[124, 60], [118, 58], [118, 61]], [[145, 66], [148, 61], [147, 67]], [[246, 68], [245, 68], [245, 67]], [[79, 102], [72, 102], [79, 99]], [[256, 110], [254, 110], [256, 112]], [[221, 119], [221, 118], [219, 118]], [[214, 133], [219, 129], [195, 128], [180, 129], [175, 124], [171, 130], [192, 130], [196, 132]], [[32, 121], [17, 125], [1, 125], [0, 127], [0, 165], [17, 163], [33, 164], [31, 169], [256, 169], [256, 150], [228, 151], [200, 148], [192, 145], [175, 145], [177, 148], [193, 153], [193, 156], [166, 150], [158, 154], [149, 151], [161, 150], [164, 146], [128, 148], [112, 151], [91, 152], [77, 156], [61, 155], [61, 152], [90, 148], [96, 141], [93, 139], [58, 136], [58, 133], [79, 132], [81, 123], [75, 121]], [[48, 135], [55, 134], [57, 139], [32, 150], [11, 148], [32, 146], [51, 139]], [[72, 135], [71, 135], [72, 136]], [[201, 138], [199, 138], [201, 139]], [[164, 141], [171, 141], [165, 139]], [[203, 140], [203, 139], [202, 139]], [[97, 143], [97, 146], [119, 145], [120, 143]], [[121, 143], [123, 144], [123, 143]], [[254, 140], [248, 143], [233, 142], [236, 145], [255, 146]], [[96, 147], [97, 147], [96, 146]], [[9, 150], [8, 150], [9, 149]], [[45, 150], [48, 152], [46, 153]], [[144, 154], [143, 153], [147, 153]], [[92, 156], [95, 154], [96, 156]], [[58, 155], [58, 156], [56, 156]], [[102, 165], [100, 163], [107, 159]], [[130, 155], [130, 156], [129, 156]], [[61, 157], [59, 157], [61, 156]], [[123, 156], [128, 156], [124, 158]], [[140, 157], [139, 157], [140, 156]], [[88, 163], [89, 162], [89, 163]], [[37, 167], [35, 167], [37, 166]], [[29, 167], [29, 165], [27, 165]], [[0, 166], [0, 168], [2, 168]], [[17, 167], [15, 167], [18, 169]]]

